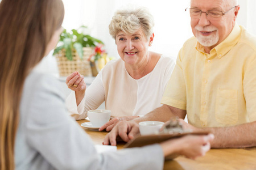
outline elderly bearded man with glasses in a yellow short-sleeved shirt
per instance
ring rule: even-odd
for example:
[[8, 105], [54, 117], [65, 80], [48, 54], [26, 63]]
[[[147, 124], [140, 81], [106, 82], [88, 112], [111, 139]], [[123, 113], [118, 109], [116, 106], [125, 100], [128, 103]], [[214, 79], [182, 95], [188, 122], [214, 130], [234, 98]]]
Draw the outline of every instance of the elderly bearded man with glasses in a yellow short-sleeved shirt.
[[208, 128], [212, 147], [256, 146], [256, 37], [238, 26], [236, 0], [191, 0], [193, 35], [179, 52], [162, 107], [119, 122], [104, 144], [129, 141], [138, 122], [186, 114], [192, 129]]

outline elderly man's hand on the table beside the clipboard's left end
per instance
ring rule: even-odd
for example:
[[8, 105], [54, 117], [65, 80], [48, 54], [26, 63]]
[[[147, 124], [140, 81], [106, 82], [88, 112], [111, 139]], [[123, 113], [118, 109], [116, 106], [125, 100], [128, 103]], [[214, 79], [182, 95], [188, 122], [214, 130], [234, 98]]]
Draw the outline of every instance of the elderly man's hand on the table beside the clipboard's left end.
[[139, 133], [139, 125], [135, 122], [120, 121], [110, 133], [104, 138], [103, 145], [117, 145], [117, 137], [120, 137], [123, 141], [128, 142], [133, 139]]

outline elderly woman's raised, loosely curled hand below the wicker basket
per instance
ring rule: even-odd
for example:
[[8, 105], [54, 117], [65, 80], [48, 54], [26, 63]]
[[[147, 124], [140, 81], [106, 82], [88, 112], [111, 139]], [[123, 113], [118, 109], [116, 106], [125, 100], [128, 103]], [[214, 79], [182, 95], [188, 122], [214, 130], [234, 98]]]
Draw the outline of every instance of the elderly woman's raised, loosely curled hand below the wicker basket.
[[75, 91], [76, 104], [79, 105], [85, 95], [86, 83], [84, 82], [84, 76], [75, 71], [67, 77], [66, 84], [69, 89]]

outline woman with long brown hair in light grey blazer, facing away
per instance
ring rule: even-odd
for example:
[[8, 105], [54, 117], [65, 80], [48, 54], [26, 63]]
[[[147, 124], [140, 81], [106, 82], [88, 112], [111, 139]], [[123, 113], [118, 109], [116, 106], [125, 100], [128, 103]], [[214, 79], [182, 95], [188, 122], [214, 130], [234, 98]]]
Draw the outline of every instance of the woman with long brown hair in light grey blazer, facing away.
[[[0, 3], [0, 169], [162, 169], [172, 153], [195, 158], [208, 136], [97, 154], [67, 114], [59, 81], [33, 70], [62, 31], [61, 0]], [[185, 144], [185, 145], [183, 145]]]

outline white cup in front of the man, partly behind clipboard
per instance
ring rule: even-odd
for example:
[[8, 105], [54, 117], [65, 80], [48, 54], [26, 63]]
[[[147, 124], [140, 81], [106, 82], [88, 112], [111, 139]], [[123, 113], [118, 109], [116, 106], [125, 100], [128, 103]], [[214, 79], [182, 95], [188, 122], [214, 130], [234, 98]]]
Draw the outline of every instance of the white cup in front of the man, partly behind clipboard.
[[150, 135], [159, 133], [159, 129], [162, 128], [164, 122], [158, 121], [146, 121], [139, 122], [139, 132], [141, 135]]

